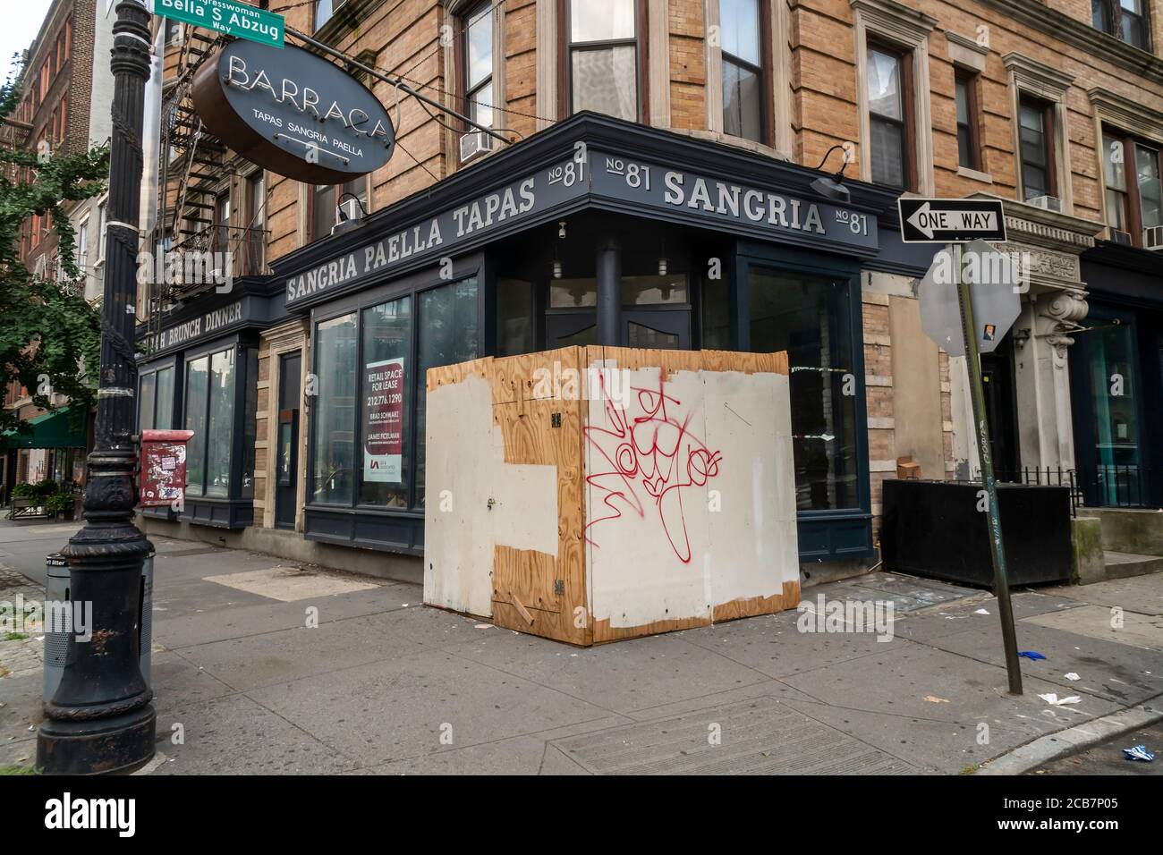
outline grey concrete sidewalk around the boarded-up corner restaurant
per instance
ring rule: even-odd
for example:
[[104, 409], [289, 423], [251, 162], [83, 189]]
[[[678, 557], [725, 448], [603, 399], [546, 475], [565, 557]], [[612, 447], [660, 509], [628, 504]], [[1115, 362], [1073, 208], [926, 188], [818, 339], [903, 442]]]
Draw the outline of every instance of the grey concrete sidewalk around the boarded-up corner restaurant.
[[[73, 530], [0, 526], [0, 600], [43, 584]], [[424, 607], [415, 585], [155, 546], [150, 774], [958, 774], [1129, 706], [1163, 712], [1161, 575], [1016, 592], [1020, 649], [1047, 658], [1022, 660], [1014, 698], [993, 598], [939, 582], [805, 590], [892, 600], [889, 641], [785, 612], [576, 649]], [[35, 758], [37, 649], [0, 640], [0, 765]]]

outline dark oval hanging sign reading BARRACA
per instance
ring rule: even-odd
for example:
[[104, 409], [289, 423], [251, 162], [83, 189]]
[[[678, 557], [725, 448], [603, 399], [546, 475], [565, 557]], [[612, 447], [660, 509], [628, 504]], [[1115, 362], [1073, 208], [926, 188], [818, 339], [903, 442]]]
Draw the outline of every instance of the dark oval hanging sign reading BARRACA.
[[301, 48], [235, 41], [194, 76], [207, 130], [248, 161], [307, 184], [342, 184], [392, 157], [387, 111], [358, 80]]

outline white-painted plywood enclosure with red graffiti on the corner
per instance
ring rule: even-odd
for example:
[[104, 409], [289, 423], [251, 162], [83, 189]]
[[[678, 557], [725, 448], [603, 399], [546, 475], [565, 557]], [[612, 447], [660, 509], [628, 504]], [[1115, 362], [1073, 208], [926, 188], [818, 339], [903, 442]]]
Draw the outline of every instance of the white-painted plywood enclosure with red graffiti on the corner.
[[786, 354], [431, 369], [424, 603], [594, 644], [799, 603]]

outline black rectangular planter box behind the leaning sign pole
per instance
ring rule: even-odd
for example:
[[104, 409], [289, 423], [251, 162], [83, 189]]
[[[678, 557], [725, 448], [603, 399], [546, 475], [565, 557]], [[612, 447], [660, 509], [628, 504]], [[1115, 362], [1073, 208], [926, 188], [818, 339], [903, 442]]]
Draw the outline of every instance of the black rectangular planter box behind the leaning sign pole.
[[[889, 570], [993, 587], [989, 518], [980, 484], [884, 482], [880, 554]], [[1070, 489], [999, 484], [1001, 539], [1011, 585], [1070, 580]]]

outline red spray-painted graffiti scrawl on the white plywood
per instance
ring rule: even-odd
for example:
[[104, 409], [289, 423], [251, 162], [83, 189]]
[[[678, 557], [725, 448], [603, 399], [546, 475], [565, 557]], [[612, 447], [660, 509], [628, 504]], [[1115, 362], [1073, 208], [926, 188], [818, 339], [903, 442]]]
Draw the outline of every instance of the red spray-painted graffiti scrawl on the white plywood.
[[[688, 564], [691, 539], [686, 530], [683, 490], [704, 486], [719, 475], [722, 454], [711, 450], [691, 433], [692, 413], [682, 421], [671, 414], [671, 411], [682, 412], [682, 401], [666, 394], [662, 369], [657, 387], [632, 386], [641, 409], [641, 414], [633, 418], [614, 406], [605, 386], [602, 376], [601, 398], [609, 427], [585, 428], [586, 441], [593, 449], [593, 473], [586, 477], [586, 483], [600, 491], [600, 504], [609, 508], [609, 513], [586, 526], [586, 542], [597, 547], [590, 529], [599, 522], [621, 519], [623, 508], [645, 519], [647, 510], [654, 505], [671, 549], [679, 561]], [[599, 468], [601, 471], [597, 471]]]

